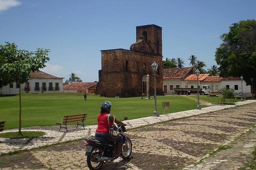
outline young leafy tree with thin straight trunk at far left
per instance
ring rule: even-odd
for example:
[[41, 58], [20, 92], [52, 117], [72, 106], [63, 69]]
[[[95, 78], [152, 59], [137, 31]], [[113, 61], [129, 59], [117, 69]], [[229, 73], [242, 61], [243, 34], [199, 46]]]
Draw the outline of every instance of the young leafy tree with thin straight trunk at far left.
[[6, 42], [0, 45], [0, 82], [1, 87], [8, 83], [19, 84], [19, 134], [21, 135], [21, 98], [20, 84], [27, 83], [30, 71], [39, 71], [49, 60], [48, 49], [37, 49], [35, 52], [19, 50], [17, 46]]

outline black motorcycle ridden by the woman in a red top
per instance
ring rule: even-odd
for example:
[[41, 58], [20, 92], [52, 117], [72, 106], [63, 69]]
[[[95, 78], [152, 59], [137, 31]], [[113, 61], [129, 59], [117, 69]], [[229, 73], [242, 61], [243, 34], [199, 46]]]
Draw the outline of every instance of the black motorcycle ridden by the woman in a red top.
[[[125, 117], [124, 120], [128, 118]], [[127, 132], [125, 126], [117, 124], [120, 135], [123, 136], [121, 145], [120, 157], [129, 159], [132, 151], [132, 143], [128, 136], [124, 135]], [[108, 160], [115, 160], [115, 142], [107, 141], [104, 138], [87, 138], [84, 137], [87, 156], [87, 166], [89, 169], [100, 169]]]

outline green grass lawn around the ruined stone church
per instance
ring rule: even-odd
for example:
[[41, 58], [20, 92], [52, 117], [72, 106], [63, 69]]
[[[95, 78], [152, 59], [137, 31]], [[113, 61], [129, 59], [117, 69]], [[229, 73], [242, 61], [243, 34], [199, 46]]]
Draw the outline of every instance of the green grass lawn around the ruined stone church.
[[[196, 96], [193, 96], [196, 97]], [[200, 96], [202, 100], [217, 102], [218, 98]], [[125, 116], [128, 119], [152, 116], [154, 99], [146, 100], [141, 97], [107, 98], [88, 94], [84, 101], [83, 94], [22, 94], [22, 127], [55, 125], [61, 122], [63, 116], [87, 113], [86, 125], [97, 124], [97, 115], [103, 101], [111, 101], [111, 114], [119, 120]], [[195, 109], [197, 102], [186, 96], [157, 96], [157, 110], [163, 114], [162, 102], [169, 101], [169, 113]], [[0, 121], [6, 121], [4, 129], [18, 128], [19, 97], [0, 97]], [[202, 106], [204, 107], [204, 106]]]

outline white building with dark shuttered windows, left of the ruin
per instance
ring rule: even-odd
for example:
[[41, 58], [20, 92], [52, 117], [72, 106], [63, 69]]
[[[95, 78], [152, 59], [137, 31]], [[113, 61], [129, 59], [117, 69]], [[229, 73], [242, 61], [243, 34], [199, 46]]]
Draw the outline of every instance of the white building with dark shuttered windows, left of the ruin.
[[[63, 92], [63, 79], [51, 74], [47, 74], [43, 71], [30, 72], [30, 79], [28, 83], [21, 84], [21, 92], [28, 93], [53, 93], [53, 92]], [[3, 86], [0, 89], [0, 94], [18, 94], [19, 85], [14, 82], [7, 86]]]

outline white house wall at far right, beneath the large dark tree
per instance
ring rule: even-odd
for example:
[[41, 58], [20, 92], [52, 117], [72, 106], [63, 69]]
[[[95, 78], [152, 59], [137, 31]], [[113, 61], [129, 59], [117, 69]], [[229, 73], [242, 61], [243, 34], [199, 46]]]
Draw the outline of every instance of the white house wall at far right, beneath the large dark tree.
[[[240, 94], [242, 92], [241, 88], [241, 80], [222, 80], [221, 81], [221, 86], [226, 86], [229, 85], [229, 88], [234, 89], [234, 85], [238, 85], [238, 90], [234, 90], [236, 94]], [[248, 94], [251, 93], [251, 86], [248, 85], [246, 86], [245, 81], [243, 80], [243, 94]]]

